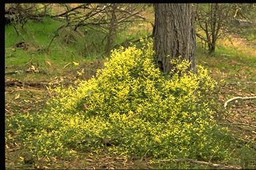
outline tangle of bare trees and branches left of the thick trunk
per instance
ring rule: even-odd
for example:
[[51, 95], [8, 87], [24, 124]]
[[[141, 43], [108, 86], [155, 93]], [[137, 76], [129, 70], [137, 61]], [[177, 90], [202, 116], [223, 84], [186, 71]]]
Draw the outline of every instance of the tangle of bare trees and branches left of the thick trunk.
[[[63, 21], [63, 25], [55, 31], [55, 35], [46, 47], [49, 50], [53, 40], [61, 35], [62, 30], [69, 30], [67, 42], [71, 41], [72, 33], [81, 32], [81, 27], [94, 30], [102, 35], [101, 44], [91, 44], [86, 46], [105, 46], [103, 54], [109, 56], [115, 45], [117, 33], [127, 29], [127, 27], [145, 22], [146, 18], [140, 13], [145, 8], [145, 4], [123, 4], [123, 3], [81, 3], [75, 7], [72, 4], [9, 4], [5, 6], [5, 23], [12, 24], [19, 36], [20, 27], [30, 19], [42, 19], [51, 17], [58, 21]], [[61, 11], [59, 9], [62, 9]], [[63, 10], [64, 9], [64, 10]], [[57, 11], [57, 13], [56, 13]], [[21, 26], [20, 26], [21, 25]], [[79, 30], [80, 29], [80, 30]], [[25, 40], [23, 40], [25, 41]]]

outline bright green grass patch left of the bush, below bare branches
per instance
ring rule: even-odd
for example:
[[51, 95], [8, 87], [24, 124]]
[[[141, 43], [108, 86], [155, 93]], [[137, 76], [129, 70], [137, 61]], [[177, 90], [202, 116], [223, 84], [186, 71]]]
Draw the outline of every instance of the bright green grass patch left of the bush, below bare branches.
[[[54, 31], [61, 25], [61, 22], [54, 21], [52, 19], [43, 19], [42, 23], [27, 23], [25, 25], [25, 31], [21, 31], [21, 35], [26, 42], [27, 48], [23, 46], [17, 48], [15, 44], [22, 41], [21, 37], [18, 37], [15, 30], [11, 25], [5, 28], [6, 42], [5, 42], [5, 72], [11, 72], [13, 70], [23, 70], [21, 74], [12, 74], [9, 78], [17, 78], [19, 80], [52, 80], [56, 76], [67, 76], [74, 69], [72, 62], [89, 63], [95, 62], [99, 56], [94, 54], [86, 54], [85, 42], [83, 39], [92, 39], [92, 37], [80, 37], [76, 44], [65, 44], [65, 35], [71, 34], [69, 30], [61, 31], [60, 36], [53, 41], [50, 46], [50, 51], [44, 51], [47, 48], [51, 39], [53, 39]], [[43, 28], [43, 29], [42, 29]], [[93, 33], [91, 36], [96, 35]], [[78, 35], [73, 33], [75, 38]], [[81, 54], [81, 52], [85, 54]], [[70, 64], [69, 64], [70, 63]], [[67, 65], [68, 64], [68, 65]], [[66, 66], [67, 65], [67, 66]], [[90, 66], [93, 69], [95, 64]], [[25, 70], [35, 66], [39, 71], [46, 74], [26, 74]], [[94, 72], [95, 72], [94, 68]], [[89, 76], [89, 75], [87, 75]]]

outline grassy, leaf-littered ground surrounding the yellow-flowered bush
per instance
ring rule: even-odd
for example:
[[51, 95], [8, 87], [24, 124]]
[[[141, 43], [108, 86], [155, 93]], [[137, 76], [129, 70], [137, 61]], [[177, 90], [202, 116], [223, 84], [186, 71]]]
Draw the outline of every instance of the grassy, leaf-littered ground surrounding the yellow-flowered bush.
[[[150, 17], [151, 14], [145, 13]], [[77, 78], [89, 79], [95, 74], [97, 68], [103, 64], [104, 42], [103, 35], [91, 29], [81, 28], [79, 33], [63, 29], [60, 36], [51, 44], [50, 50], [44, 51], [54, 31], [61, 25], [59, 21], [49, 18], [43, 19], [41, 23], [29, 21], [25, 29], [20, 30], [21, 35], [27, 42], [28, 48], [15, 46], [22, 38], [17, 36], [15, 29], [9, 25], [5, 27], [5, 73], [21, 70], [20, 74], [5, 74], [5, 80], [17, 79], [21, 82], [57, 82], [59, 84], [73, 84]], [[138, 39], [151, 33], [150, 23], [134, 25], [129, 31], [117, 35], [116, 44], [127, 39]], [[255, 96], [256, 93], [256, 54], [255, 54], [255, 31], [251, 29], [246, 40], [237, 37], [227, 37], [218, 42], [215, 55], [209, 56], [207, 52], [197, 45], [197, 62], [205, 66], [215, 80], [225, 80], [225, 86], [220, 89], [219, 96], [222, 104], [234, 96]], [[69, 37], [69, 41], [67, 38]], [[229, 41], [233, 41], [233, 45]], [[73, 62], [78, 62], [75, 66]], [[39, 72], [26, 72], [35, 66]], [[84, 74], [79, 76], [77, 71], [85, 69]], [[5, 121], [6, 124], [14, 114], [39, 113], [49, 99], [46, 88], [35, 88], [31, 86], [10, 86], [5, 88]], [[256, 102], [255, 100], [237, 101], [229, 105], [227, 113], [221, 112], [219, 123], [227, 127], [230, 133], [237, 137], [237, 141], [231, 145], [233, 153], [229, 160], [217, 163], [241, 165], [245, 168], [255, 168], [255, 129], [250, 126], [233, 125], [233, 123], [244, 123], [256, 125]], [[150, 164], [149, 158], [129, 158], [102, 150], [91, 151], [91, 153], [79, 152], [76, 157], [64, 159], [61, 157], [42, 157], [35, 163], [29, 163], [25, 159], [31, 159], [29, 149], [15, 139], [15, 131], [6, 127], [5, 132], [5, 164], [7, 169], [25, 168], [100, 168], [107, 167], [129, 169], [145, 168], [187, 168], [187, 169], [210, 169], [206, 165], [195, 165], [191, 163], [158, 163]]]

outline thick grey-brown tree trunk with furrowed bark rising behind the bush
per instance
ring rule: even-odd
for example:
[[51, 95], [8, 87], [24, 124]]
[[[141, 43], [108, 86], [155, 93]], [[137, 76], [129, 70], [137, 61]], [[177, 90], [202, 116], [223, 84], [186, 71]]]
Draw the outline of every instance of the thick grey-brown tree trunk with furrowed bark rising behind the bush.
[[191, 3], [155, 3], [153, 30], [155, 58], [160, 70], [169, 73], [172, 58], [191, 61], [189, 70], [196, 72], [195, 17]]

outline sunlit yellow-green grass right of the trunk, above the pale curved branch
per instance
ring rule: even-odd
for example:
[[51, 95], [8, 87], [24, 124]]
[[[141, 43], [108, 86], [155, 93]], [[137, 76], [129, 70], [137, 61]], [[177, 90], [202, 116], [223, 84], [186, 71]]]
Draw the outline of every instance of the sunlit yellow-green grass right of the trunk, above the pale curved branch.
[[[235, 39], [235, 38], [234, 38]], [[236, 39], [235, 39], [236, 40]], [[245, 50], [239, 50], [245, 48]], [[205, 57], [207, 56], [207, 57]], [[197, 59], [199, 64], [206, 66], [215, 79], [225, 79], [227, 83], [238, 83], [243, 90], [256, 92], [256, 53], [254, 48], [246, 44], [233, 43], [220, 40], [214, 56], [209, 56], [201, 46], [197, 46]], [[247, 84], [247, 85], [246, 85]], [[246, 85], [246, 86], [245, 86]]]

